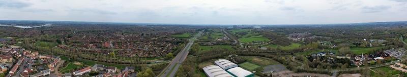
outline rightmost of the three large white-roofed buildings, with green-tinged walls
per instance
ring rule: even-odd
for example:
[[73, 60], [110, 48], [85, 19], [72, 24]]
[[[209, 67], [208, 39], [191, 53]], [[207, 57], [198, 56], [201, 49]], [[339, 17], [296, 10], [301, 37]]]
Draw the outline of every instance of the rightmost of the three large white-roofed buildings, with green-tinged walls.
[[240, 67], [230, 68], [227, 70], [236, 77], [252, 77], [254, 74]]

